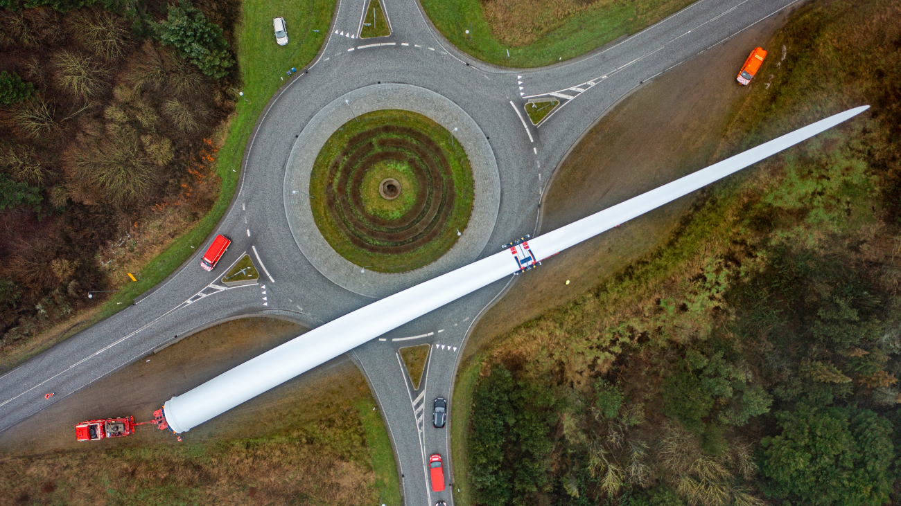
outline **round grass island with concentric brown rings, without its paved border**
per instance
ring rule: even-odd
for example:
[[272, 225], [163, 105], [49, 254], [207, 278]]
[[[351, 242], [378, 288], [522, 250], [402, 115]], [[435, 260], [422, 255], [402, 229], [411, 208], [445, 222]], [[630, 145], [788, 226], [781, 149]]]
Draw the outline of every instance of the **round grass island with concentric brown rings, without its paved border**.
[[466, 229], [474, 198], [460, 142], [422, 114], [401, 110], [341, 125], [316, 157], [309, 193], [329, 245], [384, 273], [441, 258]]

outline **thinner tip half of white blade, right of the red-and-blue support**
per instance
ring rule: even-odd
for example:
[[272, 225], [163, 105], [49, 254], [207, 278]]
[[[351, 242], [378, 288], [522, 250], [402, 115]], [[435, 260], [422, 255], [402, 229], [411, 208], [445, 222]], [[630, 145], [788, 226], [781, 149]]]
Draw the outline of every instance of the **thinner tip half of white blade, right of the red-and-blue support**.
[[657, 209], [661, 205], [670, 203], [679, 197], [685, 196], [703, 188], [706, 185], [718, 181], [725, 176], [734, 174], [744, 167], [753, 165], [763, 158], [775, 155], [783, 149], [791, 148], [798, 142], [808, 140], [816, 134], [827, 131], [833, 126], [847, 121], [854, 116], [863, 113], [869, 109], [869, 105], [861, 105], [849, 109], [843, 113], [830, 116], [819, 122], [815, 122], [778, 137], [769, 142], [760, 144], [756, 148], [748, 149], [735, 155], [732, 158], [726, 158], [721, 162], [717, 162], [710, 167], [698, 170], [688, 176], [681, 177], [672, 183], [654, 188], [646, 194], [638, 195], [623, 203], [617, 203], [612, 207], [608, 207], [604, 211], [596, 212], [591, 216], [587, 216], [578, 221], [573, 221], [569, 225], [552, 230], [546, 234], [538, 236], [529, 241], [532, 251], [538, 258], [544, 259], [555, 255], [560, 251], [577, 245], [583, 240], [595, 237], [597, 234], [610, 230], [616, 225], [632, 220]]

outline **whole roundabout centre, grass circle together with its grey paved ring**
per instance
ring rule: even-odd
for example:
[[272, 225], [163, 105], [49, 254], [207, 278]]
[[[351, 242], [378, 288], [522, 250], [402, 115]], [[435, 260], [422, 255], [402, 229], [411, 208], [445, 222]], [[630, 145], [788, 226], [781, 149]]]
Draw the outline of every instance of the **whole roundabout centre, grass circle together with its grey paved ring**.
[[284, 185], [298, 248], [332, 283], [381, 298], [478, 258], [500, 179], [487, 137], [419, 86], [343, 95], [298, 135]]

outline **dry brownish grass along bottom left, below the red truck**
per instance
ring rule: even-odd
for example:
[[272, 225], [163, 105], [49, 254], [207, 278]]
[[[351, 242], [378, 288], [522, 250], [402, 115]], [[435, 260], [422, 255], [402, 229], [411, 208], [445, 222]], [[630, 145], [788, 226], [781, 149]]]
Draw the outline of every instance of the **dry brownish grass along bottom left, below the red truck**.
[[0, 460], [0, 504], [363, 504], [375, 474], [353, 408], [287, 434]]

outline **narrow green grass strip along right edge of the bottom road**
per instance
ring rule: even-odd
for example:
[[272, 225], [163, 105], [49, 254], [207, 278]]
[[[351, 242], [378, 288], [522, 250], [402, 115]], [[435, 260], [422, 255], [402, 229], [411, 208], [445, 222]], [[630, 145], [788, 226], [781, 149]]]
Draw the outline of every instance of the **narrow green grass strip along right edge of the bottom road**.
[[[478, 372], [484, 357], [477, 354], [457, 370], [451, 406], [451, 456], [453, 457], [454, 502], [475, 504], [475, 490], [469, 485], [469, 417], [472, 408], [472, 394], [478, 384]], [[460, 492], [457, 492], [460, 490]]]

